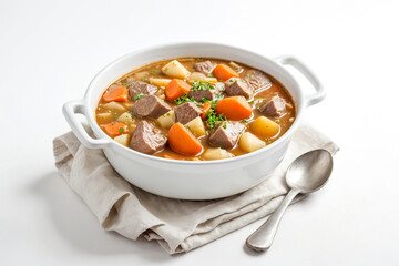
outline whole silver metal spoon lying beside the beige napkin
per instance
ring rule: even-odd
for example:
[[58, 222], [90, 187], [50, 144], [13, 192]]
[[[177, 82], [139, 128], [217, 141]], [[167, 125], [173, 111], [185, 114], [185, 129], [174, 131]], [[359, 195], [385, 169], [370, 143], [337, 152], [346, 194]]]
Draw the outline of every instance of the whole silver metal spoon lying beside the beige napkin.
[[289, 203], [299, 193], [307, 194], [323, 187], [331, 171], [332, 156], [327, 150], [314, 150], [297, 157], [286, 173], [286, 181], [291, 190], [277, 211], [247, 238], [246, 245], [257, 252], [269, 248]]

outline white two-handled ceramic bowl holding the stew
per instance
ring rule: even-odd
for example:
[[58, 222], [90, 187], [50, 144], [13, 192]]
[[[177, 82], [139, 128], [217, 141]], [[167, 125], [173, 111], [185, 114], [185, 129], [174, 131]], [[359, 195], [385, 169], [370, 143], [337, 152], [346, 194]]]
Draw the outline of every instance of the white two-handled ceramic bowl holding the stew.
[[[291, 94], [297, 117], [291, 127], [276, 142], [246, 155], [221, 161], [175, 161], [146, 155], [125, 147], [109, 137], [95, 123], [94, 112], [102, 92], [133, 69], [158, 60], [182, 57], [209, 57], [243, 62], [265, 71], [282, 82]], [[316, 93], [304, 95], [284, 65], [296, 68], [315, 86]], [[177, 43], [139, 50], [106, 65], [90, 83], [84, 99], [68, 102], [64, 116], [82, 144], [102, 149], [111, 165], [126, 181], [147, 192], [182, 200], [212, 200], [246, 191], [273, 173], [282, 162], [293, 132], [300, 123], [304, 110], [320, 102], [325, 92], [316, 76], [297, 59], [280, 57], [275, 60], [215, 43]], [[96, 139], [89, 136], [76, 113], [86, 116]]]

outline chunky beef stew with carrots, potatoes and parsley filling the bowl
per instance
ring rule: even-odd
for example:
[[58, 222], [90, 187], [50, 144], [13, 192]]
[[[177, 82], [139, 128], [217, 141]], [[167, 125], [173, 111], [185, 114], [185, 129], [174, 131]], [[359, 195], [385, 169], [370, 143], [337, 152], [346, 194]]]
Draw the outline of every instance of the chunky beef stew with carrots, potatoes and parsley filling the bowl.
[[180, 58], [119, 79], [95, 115], [110, 137], [135, 151], [207, 161], [269, 145], [296, 111], [288, 91], [267, 73], [222, 59]]

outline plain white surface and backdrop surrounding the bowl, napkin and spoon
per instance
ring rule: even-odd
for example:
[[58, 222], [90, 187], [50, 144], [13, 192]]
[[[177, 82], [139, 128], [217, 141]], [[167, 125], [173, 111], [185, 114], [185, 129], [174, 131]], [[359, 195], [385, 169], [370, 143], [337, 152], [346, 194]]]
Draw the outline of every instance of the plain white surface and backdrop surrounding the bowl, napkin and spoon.
[[[1, 265], [398, 265], [398, 1], [2, 1]], [[254, 8], [256, 7], [256, 8]], [[329, 184], [286, 213], [272, 249], [263, 221], [182, 256], [103, 232], [58, 176], [61, 105], [104, 64], [167, 41], [291, 53], [328, 91], [307, 120], [341, 147]]]

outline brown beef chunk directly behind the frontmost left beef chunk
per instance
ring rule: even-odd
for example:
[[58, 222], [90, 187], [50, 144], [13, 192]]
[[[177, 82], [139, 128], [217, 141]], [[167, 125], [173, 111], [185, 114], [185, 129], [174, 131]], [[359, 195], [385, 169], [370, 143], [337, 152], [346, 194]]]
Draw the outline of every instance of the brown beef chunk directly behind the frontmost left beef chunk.
[[155, 95], [143, 95], [133, 104], [133, 115], [140, 119], [157, 119], [171, 111], [171, 106]]

